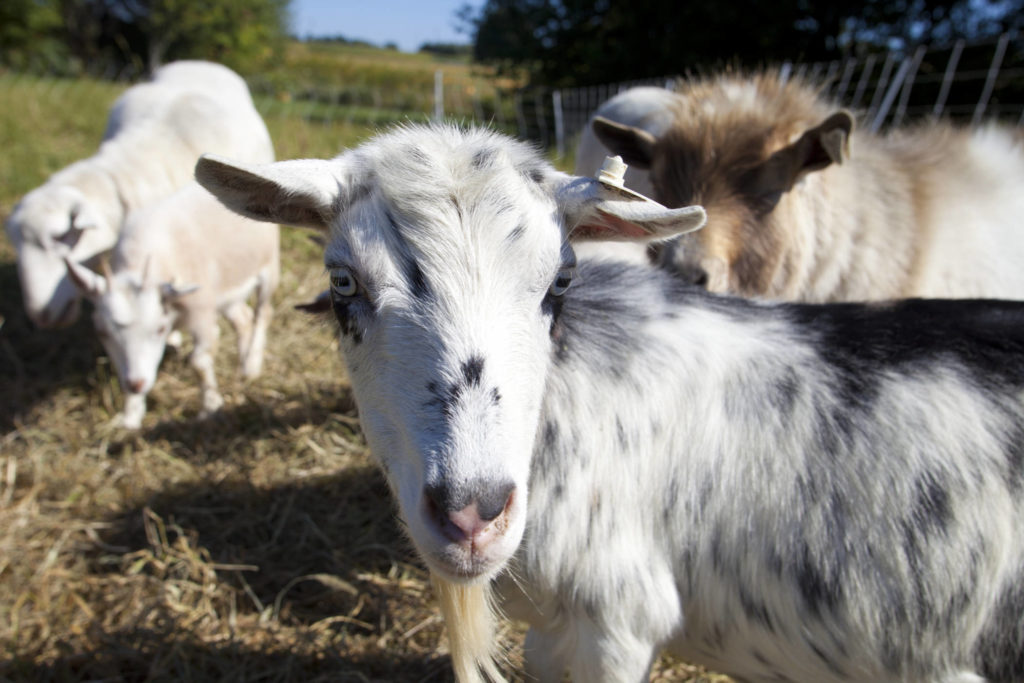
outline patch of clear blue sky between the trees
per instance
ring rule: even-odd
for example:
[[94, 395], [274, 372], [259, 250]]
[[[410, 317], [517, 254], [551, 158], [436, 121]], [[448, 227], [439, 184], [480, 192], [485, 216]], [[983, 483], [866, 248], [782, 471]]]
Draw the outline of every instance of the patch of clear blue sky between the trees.
[[344, 36], [415, 52], [423, 43], [468, 43], [455, 30], [456, 10], [484, 0], [292, 0], [292, 30], [306, 36]]

